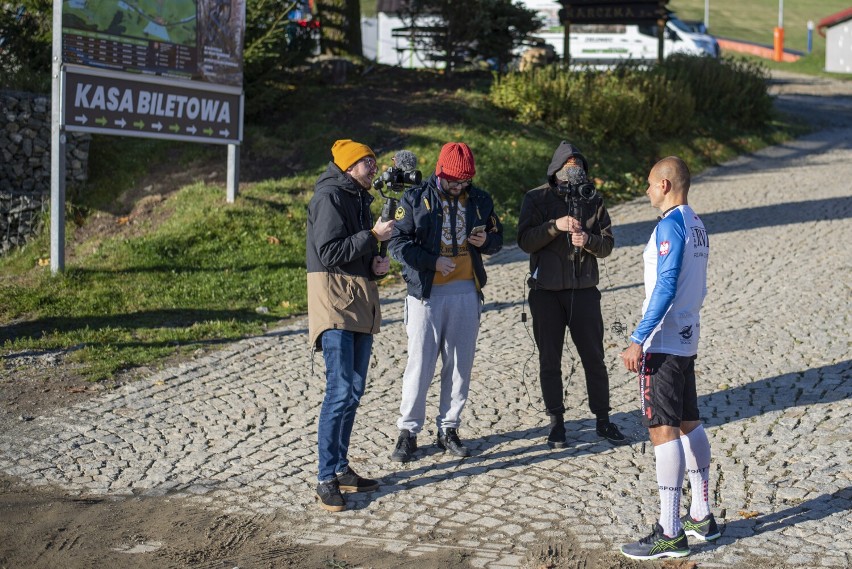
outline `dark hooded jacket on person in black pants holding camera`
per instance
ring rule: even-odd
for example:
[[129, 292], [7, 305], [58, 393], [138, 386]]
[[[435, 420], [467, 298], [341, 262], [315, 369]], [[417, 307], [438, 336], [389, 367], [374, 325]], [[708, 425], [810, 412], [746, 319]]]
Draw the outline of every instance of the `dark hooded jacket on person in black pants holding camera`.
[[[547, 168], [547, 183], [529, 190], [521, 203], [518, 246], [530, 254], [530, 288], [565, 290], [597, 286], [600, 280], [597, 258], [609, 256], [615, 246], [612, 222], [600, 194], [589, 201], [575, 201], [560, 192], [555, 174], [570, 156], [576, 156], [588, 171], [586, 158], [575, 146], [563, 141]], [[569, 234], [556, 228], [556, 219], [565, 215], [579, 216], [589, 234], [589, 242], [576, 259], [577, 269]]]

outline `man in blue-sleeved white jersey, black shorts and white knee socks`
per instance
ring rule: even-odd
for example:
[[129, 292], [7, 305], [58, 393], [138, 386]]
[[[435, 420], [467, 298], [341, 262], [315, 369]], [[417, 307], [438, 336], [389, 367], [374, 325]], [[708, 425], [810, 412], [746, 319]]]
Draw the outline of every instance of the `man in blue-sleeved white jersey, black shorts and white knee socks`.
[[[687, 535], [712, 541], [721, 533], [710, 512], [710, 442], [698, 414], [695, 356], [701, 304], [707, 294], [710, 244], [698, 215], [687, 204], [689, 168], [663, 158], [648, 174], [651, 205], [662, 212], [645, 247], [642, 320], [621, 357], [639, 373], [642, 423], [657, 463], [660, 516], [651, 534], [621, 547], [632, 559], [689, 555]], [[684, 470], [692, 502], [681, 517]]]

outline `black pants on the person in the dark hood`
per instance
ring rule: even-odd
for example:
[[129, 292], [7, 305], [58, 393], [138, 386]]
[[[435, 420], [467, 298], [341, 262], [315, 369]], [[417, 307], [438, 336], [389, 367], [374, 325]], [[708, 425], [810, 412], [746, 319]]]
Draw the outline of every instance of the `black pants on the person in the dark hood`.
[[600, 291], [595, 287], [558, 291], [533, 289], [529, 302], [541, 368], [541, 395], [548, 414], [565, 412], [562, 348], [568, 328], [586, 372], [589, 409], [599, 419], [609, 417], [609, 375], [604, 363]]

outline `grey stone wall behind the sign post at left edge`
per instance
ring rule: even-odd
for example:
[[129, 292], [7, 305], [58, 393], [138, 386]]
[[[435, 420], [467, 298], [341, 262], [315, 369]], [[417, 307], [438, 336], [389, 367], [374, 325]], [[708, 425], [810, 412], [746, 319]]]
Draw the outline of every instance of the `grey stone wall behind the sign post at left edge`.
[[[0, 91], [0, 255], [39, 231], [50, 207], [50, 97]], [[91, 135], [68, 133], [66, 192], [88, 177]]]

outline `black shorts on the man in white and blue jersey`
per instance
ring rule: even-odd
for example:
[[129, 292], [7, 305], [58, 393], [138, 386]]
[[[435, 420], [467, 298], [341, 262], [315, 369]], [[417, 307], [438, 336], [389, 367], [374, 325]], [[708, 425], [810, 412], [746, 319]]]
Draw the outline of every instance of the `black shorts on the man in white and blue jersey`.
[[639, 367], [642, 424], [646, 427], [680, 427], [681, 421], [698, 421], [695, 391], [695, 356], [645, 354]]

